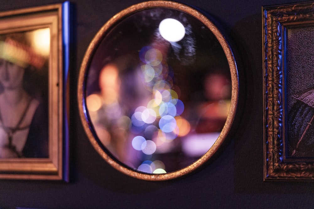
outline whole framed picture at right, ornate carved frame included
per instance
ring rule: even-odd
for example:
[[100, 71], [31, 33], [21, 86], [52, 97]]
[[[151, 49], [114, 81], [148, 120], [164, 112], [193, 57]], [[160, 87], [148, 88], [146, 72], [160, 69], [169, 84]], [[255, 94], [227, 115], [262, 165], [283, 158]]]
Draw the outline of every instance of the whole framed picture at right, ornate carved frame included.
[[264, 180], [314, 180], [314, 3], [263, 7]]

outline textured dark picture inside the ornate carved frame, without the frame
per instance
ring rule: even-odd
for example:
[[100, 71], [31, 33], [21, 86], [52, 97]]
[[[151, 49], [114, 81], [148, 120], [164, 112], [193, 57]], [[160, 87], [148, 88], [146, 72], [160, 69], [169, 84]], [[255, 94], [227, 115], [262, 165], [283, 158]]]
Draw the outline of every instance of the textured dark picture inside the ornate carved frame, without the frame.
[[287, 29], [287, 156], [314, 157], [314, 26]]

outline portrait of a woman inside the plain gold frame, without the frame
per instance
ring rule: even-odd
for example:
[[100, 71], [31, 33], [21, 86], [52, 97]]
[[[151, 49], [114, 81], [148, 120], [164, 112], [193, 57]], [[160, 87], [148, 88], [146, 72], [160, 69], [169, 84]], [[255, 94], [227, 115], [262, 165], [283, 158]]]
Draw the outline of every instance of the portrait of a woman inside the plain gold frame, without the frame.
[[0, 158], [48, 158], [50, 29], [0, 34]]

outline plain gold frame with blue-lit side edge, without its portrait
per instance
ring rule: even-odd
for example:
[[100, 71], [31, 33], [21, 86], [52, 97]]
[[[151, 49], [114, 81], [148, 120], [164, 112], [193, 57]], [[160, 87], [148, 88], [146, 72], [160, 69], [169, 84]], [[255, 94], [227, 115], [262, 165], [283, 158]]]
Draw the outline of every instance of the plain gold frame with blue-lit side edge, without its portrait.
[[[69, 2], [0, 13], [0, 33], [50, 28], [48, 158], [0, 159], [0, 179], [68, 181]], [[66, 34], [66, 35], [65, 35]]]

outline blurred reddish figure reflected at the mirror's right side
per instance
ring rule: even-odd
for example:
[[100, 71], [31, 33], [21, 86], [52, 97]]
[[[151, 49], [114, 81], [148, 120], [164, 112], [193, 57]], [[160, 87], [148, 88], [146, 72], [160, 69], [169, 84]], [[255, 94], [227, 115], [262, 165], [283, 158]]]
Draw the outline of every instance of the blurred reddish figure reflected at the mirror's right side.
[[212, 73], [205, 77], [203, 86], [206, 101], [198, 106], [196, 132], [220, 132], [230, 109], [231, 81], [222, 73]]

